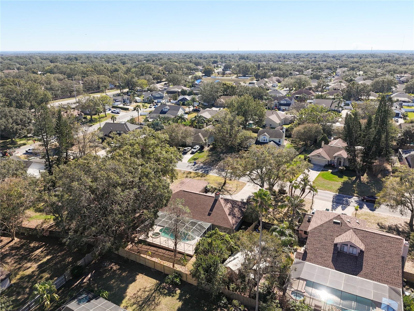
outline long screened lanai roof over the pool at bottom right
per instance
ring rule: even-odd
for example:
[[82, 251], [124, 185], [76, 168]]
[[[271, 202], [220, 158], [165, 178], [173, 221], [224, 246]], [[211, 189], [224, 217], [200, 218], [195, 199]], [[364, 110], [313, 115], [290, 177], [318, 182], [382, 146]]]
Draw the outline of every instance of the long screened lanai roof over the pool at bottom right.
[[[295, 259], [287, 283], [288, 289], [356, 311], [402, 311], [402, 292], [388, 286], [354, 275], [321, 267]], [[302, 279], [305, 282], [299, 282]]]

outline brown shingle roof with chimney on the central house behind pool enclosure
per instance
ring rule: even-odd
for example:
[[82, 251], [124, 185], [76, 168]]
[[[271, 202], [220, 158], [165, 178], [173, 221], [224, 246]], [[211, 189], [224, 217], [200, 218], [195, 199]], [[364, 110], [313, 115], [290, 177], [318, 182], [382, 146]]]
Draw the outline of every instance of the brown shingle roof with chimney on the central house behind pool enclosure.
[[246, 202], [222, 197], [214, 199], [214, 195], [188, 190], [174, 192], [171, 200], [175, 199], [184, 199], [183, 205], [190, 209], [193, 219], [229, 229], [236, 228], [248, 205]]

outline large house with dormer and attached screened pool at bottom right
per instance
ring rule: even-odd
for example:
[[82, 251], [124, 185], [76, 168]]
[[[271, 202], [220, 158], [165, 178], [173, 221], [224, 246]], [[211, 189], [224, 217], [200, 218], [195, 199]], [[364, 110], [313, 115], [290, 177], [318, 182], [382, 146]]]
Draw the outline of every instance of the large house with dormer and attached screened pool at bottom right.
[[306, 245], [295, 254], [284, 295], [315, 310], [403, 311], [409, 242], [330, 211], [304, 214]]

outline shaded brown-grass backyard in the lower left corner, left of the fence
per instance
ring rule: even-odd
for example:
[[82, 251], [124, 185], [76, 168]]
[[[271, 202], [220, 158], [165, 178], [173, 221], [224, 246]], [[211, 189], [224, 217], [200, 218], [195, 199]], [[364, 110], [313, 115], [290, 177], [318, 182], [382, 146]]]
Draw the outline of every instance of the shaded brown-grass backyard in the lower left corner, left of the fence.
[[67, 249], [55, 238], [18, 237], [0, 239], [2, 267], [12, 272], [13, 284], [2, 295], [12, 299], [13, 310], [29, 302], [34, 284], [60, 277], [86, 254]]

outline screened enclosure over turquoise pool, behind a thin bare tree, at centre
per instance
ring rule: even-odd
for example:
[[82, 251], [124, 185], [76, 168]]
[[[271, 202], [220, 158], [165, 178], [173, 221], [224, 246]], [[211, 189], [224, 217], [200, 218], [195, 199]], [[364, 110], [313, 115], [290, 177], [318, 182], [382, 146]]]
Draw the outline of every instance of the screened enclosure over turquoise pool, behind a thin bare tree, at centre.
[[[152, 232], [149, 233], [147, 242], [161, 245], [168, 249], [174, 249], [173, 234], [173, 219], [162, 211], [158, 212], [158, 218], [155, 220]], [[211, 230], [211, 224], [198, 221], [195, 219], [188, 219], [185, 223], [181, 223], [183, 229], [178, 234], [178, 245], [177, 250], [181, 253], [188, 255], [194, 255], [195, 244], [202, 238], [207, 231]]]

